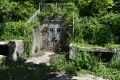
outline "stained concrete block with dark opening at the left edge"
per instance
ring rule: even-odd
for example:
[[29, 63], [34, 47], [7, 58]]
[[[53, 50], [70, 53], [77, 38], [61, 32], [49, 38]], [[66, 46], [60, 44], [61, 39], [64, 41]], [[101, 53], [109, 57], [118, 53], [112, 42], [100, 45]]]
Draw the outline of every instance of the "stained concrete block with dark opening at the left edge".
[[24, 54], [23, 40], [12, 40], [9, 42], [0, 42], [0, 55], [7, 56], [10, 59], [17, 60]]

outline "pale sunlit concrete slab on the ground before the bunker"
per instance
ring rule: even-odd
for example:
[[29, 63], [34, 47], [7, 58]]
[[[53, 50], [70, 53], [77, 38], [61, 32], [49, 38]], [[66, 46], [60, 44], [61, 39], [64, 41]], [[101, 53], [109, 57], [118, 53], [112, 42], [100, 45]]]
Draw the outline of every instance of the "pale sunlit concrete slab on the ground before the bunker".
[[42, 64], [42, 63], [49, 63], [50, 61], [50, 56], [54, 55], [54, 52], [44, 52], [44, 55], [42, 56], [37, 56], [37, 57], [30, 57], [26, 60], [25, 63], [34, 63], [34, 64]]

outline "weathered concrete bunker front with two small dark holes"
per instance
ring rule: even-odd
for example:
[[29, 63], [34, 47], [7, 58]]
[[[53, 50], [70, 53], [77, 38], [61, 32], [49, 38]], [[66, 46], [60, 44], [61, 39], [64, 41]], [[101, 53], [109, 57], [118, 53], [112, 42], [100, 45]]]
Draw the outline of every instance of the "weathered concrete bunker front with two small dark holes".
[[63, 48], [66, 41], [63, 22], [62, 15], [42, 18], [42, 25], [33, 31], [33, 54], [39, 50], [56, 52]]

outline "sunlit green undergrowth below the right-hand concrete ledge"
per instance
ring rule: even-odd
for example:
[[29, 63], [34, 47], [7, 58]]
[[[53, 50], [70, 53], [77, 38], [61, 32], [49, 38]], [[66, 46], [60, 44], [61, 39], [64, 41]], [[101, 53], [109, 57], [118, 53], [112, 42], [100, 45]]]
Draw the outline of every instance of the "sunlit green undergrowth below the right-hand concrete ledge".
[[90, 73], [109, 80], [120, 79], [120, 61], [115, 58], [109, 63], [103, 63], [91, 53], [78, 52], [74, 60], [67, 60], [66, 55], [62, 54], [51, 63], [51, 68], [55, 71], [77, 75]]

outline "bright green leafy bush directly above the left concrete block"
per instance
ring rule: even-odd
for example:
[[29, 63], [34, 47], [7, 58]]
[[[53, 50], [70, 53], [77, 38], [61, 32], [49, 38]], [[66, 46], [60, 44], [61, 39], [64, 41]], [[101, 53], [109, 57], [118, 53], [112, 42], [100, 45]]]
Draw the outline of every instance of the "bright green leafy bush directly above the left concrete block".
[[8, 22], [5, 23], [3, 27], [1, 40], [31, 39], [32, 27], [28, 26], [25, 22]]

